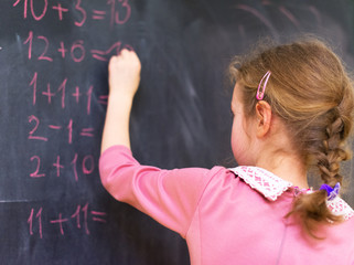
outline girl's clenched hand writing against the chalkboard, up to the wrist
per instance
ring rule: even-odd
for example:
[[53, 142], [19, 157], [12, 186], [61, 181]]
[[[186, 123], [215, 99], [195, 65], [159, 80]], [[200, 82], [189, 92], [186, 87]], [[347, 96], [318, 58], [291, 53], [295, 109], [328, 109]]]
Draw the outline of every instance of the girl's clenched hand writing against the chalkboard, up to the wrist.
[[133, 51], [124, 49], [109, 61], [109, 95], [133, 98], [140, 83], [141, 64]]

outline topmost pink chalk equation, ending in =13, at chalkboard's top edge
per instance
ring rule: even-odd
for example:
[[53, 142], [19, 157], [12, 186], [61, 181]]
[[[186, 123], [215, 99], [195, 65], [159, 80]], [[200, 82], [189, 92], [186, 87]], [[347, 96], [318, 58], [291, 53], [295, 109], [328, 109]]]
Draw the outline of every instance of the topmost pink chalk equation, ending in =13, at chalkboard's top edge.
[[23, 4], [23, 19], [32, 17], [35, 21], [41, 21], [49, 17], [57, 21], [68, 20], [75, 13], [74, 24], [84, 26], [87, 19], [93, 21], [107, 21], [110, 28], [126, 24], [131, 17], [131, 6], [129, 0], [108, 0], [103, 9], [87, 10], [82, 0], [75, 0], [74, 4], [67, 1], [52, 3], [49, 0], [15, 0], [13, 8], [21, 8]]

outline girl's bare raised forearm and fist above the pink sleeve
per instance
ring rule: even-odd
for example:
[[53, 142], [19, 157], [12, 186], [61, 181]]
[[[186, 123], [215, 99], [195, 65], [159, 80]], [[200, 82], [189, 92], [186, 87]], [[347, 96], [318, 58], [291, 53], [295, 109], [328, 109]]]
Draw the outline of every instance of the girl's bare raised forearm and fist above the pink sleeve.
[[129, 118], [132, 99], [140, 82], [141, 64], [133, 51], [122, 50], [109, 62], [109, 96], [101, 140], [101, 153], [122, 145], [130, 149]]

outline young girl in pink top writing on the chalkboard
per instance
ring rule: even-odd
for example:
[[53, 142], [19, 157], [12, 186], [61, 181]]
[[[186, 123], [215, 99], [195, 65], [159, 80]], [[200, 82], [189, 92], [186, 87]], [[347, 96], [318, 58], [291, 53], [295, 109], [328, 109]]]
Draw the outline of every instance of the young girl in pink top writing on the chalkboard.
[[[131, 155], [129, 114], [140, 62], [109, 63], [100, 176], [117, 200], [183, 236], [191, 264], [354, 264], [354, 211], [337, 193], [350, 158], [353, 87], [322, 42], [235, 59], [232, 148], [237, 168], [162, 170]], [[314, 166], [323, 184], [309, 189]]]

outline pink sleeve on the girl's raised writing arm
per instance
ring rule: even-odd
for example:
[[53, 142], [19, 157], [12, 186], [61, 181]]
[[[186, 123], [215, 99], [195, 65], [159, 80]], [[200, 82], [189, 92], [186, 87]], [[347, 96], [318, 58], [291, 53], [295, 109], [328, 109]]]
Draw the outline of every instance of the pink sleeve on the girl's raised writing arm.
[[99, 160], [106, 190], [185, 237], [200, 198], [216, 171], [202, 168], [162, 170], [141, 166], [124, 146], [105, 150]]

